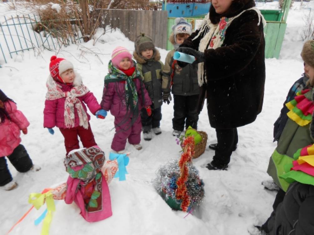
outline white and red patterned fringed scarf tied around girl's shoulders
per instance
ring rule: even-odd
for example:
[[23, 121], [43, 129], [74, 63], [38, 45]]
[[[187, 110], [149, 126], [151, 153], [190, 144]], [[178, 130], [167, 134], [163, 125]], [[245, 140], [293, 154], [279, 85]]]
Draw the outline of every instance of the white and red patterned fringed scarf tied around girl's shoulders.
[[[76, 75], [77, 76], [77, 75]], [[51, 76], [48, 77], [46, 87], [48, 91], [46, 93], [47, 100], [60, 99], [65, 97], [64, 103], [64, 124], [67, 128], [74, 127], [75, 115], [74, 105], [78, 113], [79, 125], [88, 129], [88, 117], [83, 108], [81, 101], [77, 98], [83, 96], [89, 92], [89, 89], [81, 83], [78, 86], [74, 86], [71, 91], [63, 92], [60, 85], [56, 83]]]

